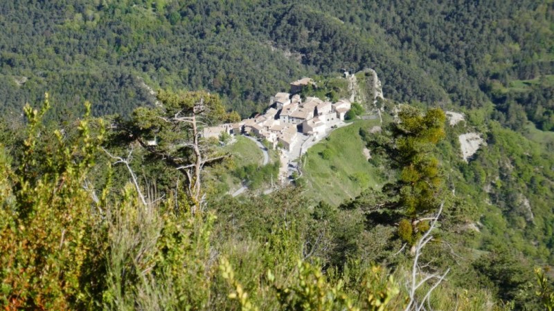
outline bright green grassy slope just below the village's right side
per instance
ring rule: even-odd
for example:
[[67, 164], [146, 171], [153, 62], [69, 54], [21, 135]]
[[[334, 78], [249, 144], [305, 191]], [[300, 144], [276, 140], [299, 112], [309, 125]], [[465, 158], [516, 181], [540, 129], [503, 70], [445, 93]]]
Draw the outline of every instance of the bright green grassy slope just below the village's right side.
[[339, 205], [381, 182], [377, 168], [362, 153], [364, 142], [359, 135], [360, 127], [375, 125], [379, 120], [356, 120], [307, 151], [302, 164], [307, 196]]

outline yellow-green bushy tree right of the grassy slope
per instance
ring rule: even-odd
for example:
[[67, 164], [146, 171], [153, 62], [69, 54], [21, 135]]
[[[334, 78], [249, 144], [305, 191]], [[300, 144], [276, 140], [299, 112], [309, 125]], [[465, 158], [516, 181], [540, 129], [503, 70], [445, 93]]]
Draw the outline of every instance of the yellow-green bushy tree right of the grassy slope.
[[399, 179], [383, 189], [391, 198], [398, 196], [395, 208], [413, 220], [437, 209], [441, 201], [443, 173], [433, 153], [445, 137], [445, 113], [431, 109], [421, 115], [418, 109], [402, 105], [398, 117], [398, 122], [389, 124], [391, 137], [370, 138], [369, 146], [400, 170]]

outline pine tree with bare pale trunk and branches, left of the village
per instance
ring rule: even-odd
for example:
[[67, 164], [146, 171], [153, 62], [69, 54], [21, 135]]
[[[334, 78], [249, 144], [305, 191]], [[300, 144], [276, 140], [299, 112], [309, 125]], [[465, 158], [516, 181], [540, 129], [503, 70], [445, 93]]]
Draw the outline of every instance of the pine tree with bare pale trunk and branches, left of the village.
[[202, 137], [209, 124], [229, 120], [217, 95], [205, 91], [159, 91], [160, 104], [135, 109], [129, 121], [116, 120], [119, 140], [139, 144], [154, 158], [163, 160], [182, 173], [190, 210], [202, 209], [202, 170], [228, 155], [218, 151]]

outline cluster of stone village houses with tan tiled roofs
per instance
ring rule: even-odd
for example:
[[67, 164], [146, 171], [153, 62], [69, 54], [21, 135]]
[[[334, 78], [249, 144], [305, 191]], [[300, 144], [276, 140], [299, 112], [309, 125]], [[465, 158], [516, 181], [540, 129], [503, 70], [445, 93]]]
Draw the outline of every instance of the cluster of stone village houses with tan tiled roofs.
[[301, 100], [298, 93], [304, 86], [312, 84], [312, 79], [304, 78], [292, 82], [291, 93], [277, 93], [271, 97], [269, 109], [238, 123], [206, 127], [204, 137], [219, 137], [222, 132], [229, 134], [246, 133], [265, 139], [276, 147], [280, 145], [289, 150], [296, 142], [299, 133], [320, 136], [325, 135], [333, 126], [344, 120], [350, 110], [348, 100], [339, 100], [332, 104], [317, 97]]

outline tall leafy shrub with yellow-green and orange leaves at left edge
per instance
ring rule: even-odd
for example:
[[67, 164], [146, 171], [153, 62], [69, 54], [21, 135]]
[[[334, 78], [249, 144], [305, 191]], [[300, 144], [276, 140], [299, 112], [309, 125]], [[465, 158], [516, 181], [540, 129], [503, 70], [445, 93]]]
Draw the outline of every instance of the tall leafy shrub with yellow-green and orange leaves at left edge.
[[89, 278], [96, 277], [89, 273], [95, 267], [88, 266], [95, 256], [94, 211], [82, 185], [103, 133], [91, 135], [85, 104], [87, 114], [73, 137], [48, 135], [41, 119], [49, 106], [48, 95], [40, 111], [26, 106], [19, 167], [12, 171], [1, 162], [0, 303], [6, 308], [77, 308], [94, 290]]

